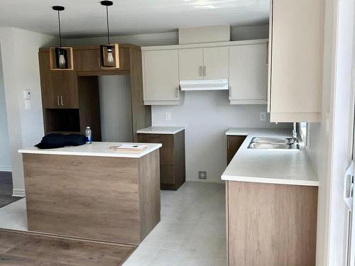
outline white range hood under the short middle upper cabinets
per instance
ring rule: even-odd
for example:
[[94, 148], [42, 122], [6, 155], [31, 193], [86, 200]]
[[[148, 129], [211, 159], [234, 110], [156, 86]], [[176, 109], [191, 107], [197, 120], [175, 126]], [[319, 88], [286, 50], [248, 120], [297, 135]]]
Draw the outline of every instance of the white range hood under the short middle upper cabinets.
[[229, 89], [228, 79], [180, 80], [182, 91], [213, 91]]

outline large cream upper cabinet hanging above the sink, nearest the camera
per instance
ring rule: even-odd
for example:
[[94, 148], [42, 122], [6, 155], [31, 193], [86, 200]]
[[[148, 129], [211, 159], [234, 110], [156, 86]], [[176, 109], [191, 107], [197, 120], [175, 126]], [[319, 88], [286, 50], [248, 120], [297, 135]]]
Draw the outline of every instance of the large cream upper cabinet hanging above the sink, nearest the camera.
[[319, 122], [324, 1], [271, 1], [270, 35], [271, 121]]

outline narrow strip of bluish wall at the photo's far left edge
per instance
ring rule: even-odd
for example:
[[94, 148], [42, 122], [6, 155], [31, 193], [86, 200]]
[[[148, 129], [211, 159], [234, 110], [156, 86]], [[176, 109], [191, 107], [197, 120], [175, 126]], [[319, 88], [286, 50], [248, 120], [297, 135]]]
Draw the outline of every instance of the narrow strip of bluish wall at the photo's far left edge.
[[9, 131], [7, 127], [4, 78], [0, 51], [0, 171], [11, 171]]

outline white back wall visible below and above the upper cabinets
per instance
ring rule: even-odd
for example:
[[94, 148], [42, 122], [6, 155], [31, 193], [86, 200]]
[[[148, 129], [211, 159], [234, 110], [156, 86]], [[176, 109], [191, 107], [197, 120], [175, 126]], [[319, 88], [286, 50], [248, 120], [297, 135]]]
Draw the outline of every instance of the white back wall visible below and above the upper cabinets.
[[[268, 24], [232, 27], [232, 40], [268, 38]], [[113, 36], [113, 42], [135, 45], [178, 44], [178, 32]], [[106, 38], [80, 38], [66, 40], [68, 45], [98, 45]], [[231, 127], [288, 127], [290, 124], [271, 124], [260, 121], [260, 112], [266, 106], [232, 106], [227, 92], [185, 92], [180, 106], [152, 106], [153, 126], [186, 126], [187, 179], [198, 179], [199, 170], [207, 171], [207, 181], [220, 181], [226, 168], [225, 131]], [[171, 121], [165, 121], [165, 112]], [[269, 120], [269, 118], [268, 118]], [[212, 152], [213, 151], [213, 152]]]

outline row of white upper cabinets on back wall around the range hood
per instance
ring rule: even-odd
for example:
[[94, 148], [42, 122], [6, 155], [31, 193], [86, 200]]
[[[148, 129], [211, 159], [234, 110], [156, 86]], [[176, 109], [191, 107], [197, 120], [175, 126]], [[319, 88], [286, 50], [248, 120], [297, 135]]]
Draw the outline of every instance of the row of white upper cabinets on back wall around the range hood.
[[144, 104], [180, 104], [180, 81], [207, 79], [229, 80], [231, 104], [266, 104], [267, 41], [142, 47]]

